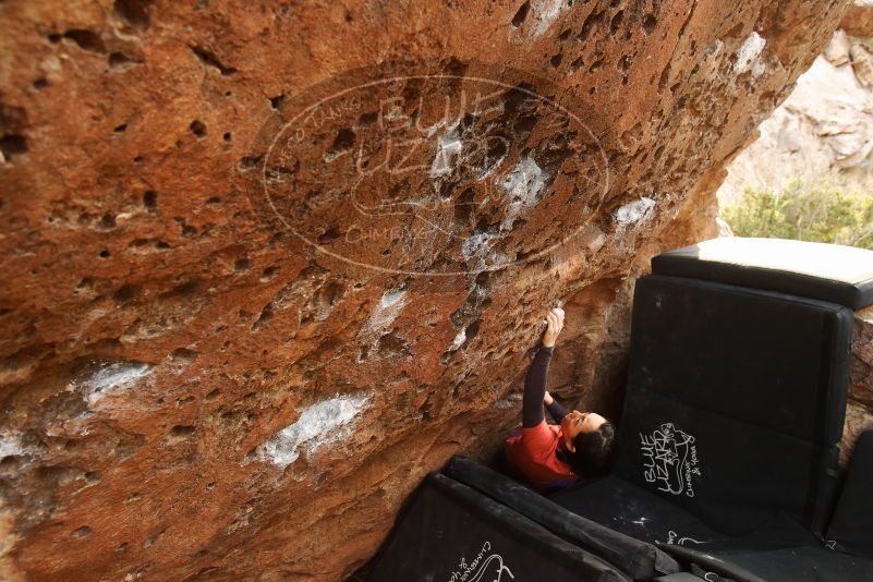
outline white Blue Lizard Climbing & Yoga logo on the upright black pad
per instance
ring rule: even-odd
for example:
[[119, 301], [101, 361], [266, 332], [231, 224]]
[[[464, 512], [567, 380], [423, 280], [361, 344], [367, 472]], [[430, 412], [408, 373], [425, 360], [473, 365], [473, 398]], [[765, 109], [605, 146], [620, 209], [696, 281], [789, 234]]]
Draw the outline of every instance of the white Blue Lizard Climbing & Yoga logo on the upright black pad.
[[651, 434], [640, 433], [643, 477], [659, 492], [694, 497], [693, 478], [700, 477], [700, 462], [694, 437], [672, 423], [663, 423]]

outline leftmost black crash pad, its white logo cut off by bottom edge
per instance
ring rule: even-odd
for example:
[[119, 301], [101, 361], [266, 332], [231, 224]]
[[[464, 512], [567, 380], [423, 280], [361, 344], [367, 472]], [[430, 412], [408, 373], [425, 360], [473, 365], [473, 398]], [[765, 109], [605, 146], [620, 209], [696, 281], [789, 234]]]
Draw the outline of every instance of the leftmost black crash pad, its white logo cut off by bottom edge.
[[605, 560], [446, 475], [421, 484], [376, 557], [371, 582], [618, 582]]

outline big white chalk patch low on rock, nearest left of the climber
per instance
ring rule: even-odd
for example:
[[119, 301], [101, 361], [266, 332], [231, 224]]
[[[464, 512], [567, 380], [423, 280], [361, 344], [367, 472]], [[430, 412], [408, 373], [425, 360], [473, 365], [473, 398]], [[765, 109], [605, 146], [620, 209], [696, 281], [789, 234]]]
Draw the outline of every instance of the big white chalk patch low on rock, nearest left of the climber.
[[366, 395], [356, 395], [316, 402], [305, 409], [295, 423], [260, 445], [258, 459], [284, 469], [300, 458], [301, 449], [310, 457], [320, 447], [344, 438], [351, 432], [351, 422], [368, 400]]

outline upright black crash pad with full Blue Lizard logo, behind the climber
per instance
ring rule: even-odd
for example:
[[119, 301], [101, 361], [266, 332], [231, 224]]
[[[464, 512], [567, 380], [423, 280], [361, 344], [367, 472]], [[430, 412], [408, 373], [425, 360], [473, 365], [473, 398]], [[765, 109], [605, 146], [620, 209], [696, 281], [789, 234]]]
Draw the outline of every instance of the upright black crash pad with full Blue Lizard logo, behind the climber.
[[852, 312], [677, 277], [638, 281], [616, 475], [712, 530], [833, 507]]

